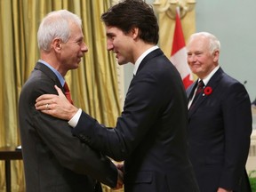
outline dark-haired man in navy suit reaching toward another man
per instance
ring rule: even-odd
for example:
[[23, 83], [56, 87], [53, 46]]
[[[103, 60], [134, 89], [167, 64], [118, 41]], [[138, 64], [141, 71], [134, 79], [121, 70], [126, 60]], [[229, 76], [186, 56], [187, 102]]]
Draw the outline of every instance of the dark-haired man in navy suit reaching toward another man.
[[[36, 108], [68, 120], [80, 140], [116, 161], [124, 160], [124, 191], [197, 192], [188, 160], [186, 93], [179, 72], [156, 46], [158, 24], [152, 7], [142, 0], [124, 0], [101, 20], [108, 51], [116, 53], [119, 65], [134, 64], [115, 129], [70, 105], [59, 88], [59, 96], [38, 98]], [[52, 108], [44, 110], [46, 104]]]

